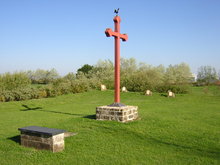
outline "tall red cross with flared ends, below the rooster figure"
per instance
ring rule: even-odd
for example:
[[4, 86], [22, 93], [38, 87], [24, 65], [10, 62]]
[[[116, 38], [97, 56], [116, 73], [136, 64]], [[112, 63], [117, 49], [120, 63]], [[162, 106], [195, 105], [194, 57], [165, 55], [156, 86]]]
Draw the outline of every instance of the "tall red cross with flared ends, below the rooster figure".
[[121, 18], [118, 15], [114, 17], [113, 21], [115, 23], [115, 31], [112, 31], [110, 28], [105, 30], [107, 37], [113, 36], [115, 38], [115, 100], [112, 105], [123, 106], [120, 103], [120, 39], [127, 41], [128, 35], [120, 34]]

